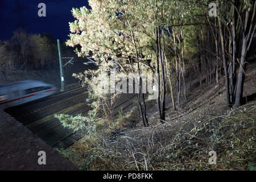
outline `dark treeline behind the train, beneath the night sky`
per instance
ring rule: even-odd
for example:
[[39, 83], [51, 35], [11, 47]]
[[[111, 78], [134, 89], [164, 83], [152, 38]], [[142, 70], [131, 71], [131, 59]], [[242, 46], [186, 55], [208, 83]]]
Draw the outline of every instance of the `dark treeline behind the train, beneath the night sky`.
[[[77, 55], [73, 49], [61, 41], [62, 57]], [[63, 60], [67, 61], [67, 60]], [[15, 69], [59, 69], [57, 40], [53, 35], [44, 33], [28, 34], [20, 29], [10, 40], [0, 40], [0, 67], [2, 70]]]

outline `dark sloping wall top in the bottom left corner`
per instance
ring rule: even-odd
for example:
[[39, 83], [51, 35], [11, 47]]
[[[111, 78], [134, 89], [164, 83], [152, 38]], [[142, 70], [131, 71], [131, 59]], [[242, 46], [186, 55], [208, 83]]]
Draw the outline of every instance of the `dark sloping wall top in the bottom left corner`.
[[0, 170], [78, 170], [72, 162], [3, 111], [0, 118], [0, 161]]

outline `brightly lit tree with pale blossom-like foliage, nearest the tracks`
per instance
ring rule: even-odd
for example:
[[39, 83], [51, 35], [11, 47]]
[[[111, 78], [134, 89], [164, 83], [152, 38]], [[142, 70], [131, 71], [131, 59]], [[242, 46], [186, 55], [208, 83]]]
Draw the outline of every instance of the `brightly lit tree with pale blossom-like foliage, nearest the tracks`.
[[[72, 13], [77, 20], [70, 23], [71, 32], [68, 46], [80, 45], [76, 49], [79, 56], [87, 56], [92, 52], [93, 57], [103, 57], [107, 60], [118, 60], [121, 71], [134, 72], [139, 75], [139, 88], [142, 88], [143, 51], [147, 36], [136, 30], [135, 19], [130, 8], [134, 6], [121, 6], [123, 2], [117, 1], [90, 1], [92, 10], [82, 7], [73, 9]], [[135, 3], [135, 2], [134, 2]], [[109, 6], [110, 5], [110, 6]], [[81, 31], [81, 34], [79, 32]], [[96, 59], [100, 63], [100, 59]], [[129, 63], [129, 64], [127, 64]], [[137, 65], [133, 67], [133, 65]], [[100, 65], [100, 64], [99, 64]], [[137, 94], [138, 106], [141, 111], [144, 126], [148, 125], [146, 117], [146, 103], [144, 94]]]

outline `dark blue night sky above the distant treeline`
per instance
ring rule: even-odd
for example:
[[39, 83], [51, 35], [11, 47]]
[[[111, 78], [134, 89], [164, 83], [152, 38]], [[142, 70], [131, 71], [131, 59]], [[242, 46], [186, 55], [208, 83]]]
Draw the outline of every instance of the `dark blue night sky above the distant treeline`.
[[[38, 4], [46, 4], [46, 17], [38, 16]], [[19, 4], [19, 11], [15, 11]], [[86, 6], [87, 0], [0, 0], [0, 40], [13, 36], [18, 24], [32, 34], [52, 34], [56, 39], [68, 39], [69, 25], [73, 22], [72, 7]]]

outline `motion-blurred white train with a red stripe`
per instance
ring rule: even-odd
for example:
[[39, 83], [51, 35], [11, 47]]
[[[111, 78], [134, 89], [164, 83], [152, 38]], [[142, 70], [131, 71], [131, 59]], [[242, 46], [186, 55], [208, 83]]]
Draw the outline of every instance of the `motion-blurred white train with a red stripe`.
[[0, 108], [6, 109], [35, 101], [56, 92], [59, 92], [59, 88], [42, 81], [27, 80], [0, 85]]

